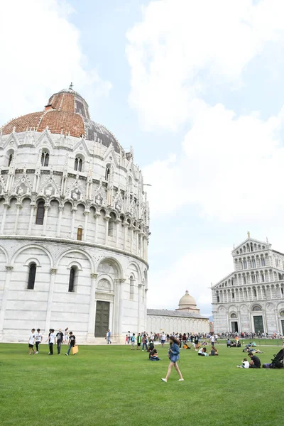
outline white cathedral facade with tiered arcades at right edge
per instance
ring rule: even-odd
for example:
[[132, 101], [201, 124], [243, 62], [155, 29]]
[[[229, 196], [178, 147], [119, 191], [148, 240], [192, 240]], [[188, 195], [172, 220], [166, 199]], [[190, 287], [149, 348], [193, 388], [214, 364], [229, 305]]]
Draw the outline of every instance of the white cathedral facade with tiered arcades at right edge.
[[284, 335], [284, 254], [248, 236], [232, 251], [234, 272], [212, 286], [214, 332]]

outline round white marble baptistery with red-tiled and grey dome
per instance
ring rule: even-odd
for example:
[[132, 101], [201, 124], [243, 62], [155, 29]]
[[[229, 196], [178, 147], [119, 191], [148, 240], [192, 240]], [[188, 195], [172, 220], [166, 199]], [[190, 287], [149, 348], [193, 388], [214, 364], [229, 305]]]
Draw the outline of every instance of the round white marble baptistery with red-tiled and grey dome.
[[146, 329], [149, 210], [133, 151], [72, 89], [0, 133], [0, 339]]

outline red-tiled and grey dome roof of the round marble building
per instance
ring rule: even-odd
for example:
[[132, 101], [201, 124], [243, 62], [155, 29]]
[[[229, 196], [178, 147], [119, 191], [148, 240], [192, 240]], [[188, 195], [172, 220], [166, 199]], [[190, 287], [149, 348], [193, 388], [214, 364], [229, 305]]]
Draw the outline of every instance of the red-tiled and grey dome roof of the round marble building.
[[90, 119], [88, 104], [72, 89], [72, 83], [69, 89], [53, 94], [44, 111], [19, 116], [3, 126], [1, 131], [4, 135], [29, 129], [43, 132], [47, 127], [51, 133], [66, 133], [76, 138], [84, 136], [88, 141], [98, 141], [107, 147], [112, 143], [114, 151], [124, 152], [109, 130]]

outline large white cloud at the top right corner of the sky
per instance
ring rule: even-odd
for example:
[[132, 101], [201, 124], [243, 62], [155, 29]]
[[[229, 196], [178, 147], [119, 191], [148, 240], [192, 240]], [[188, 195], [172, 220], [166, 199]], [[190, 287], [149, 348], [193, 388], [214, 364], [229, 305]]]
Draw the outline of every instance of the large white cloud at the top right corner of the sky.
[[284, 43], [282, 0], [160, 0], [127, 33], [131, 107], [146, 129], [175, 130], [210, 87], [241, 84], [267, 43]]

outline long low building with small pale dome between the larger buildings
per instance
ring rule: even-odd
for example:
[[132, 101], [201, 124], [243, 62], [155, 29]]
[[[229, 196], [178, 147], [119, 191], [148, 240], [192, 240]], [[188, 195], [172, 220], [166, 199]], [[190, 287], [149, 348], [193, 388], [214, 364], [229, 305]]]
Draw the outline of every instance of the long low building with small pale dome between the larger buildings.
[[195, 299], [186, 290], [176, 310], [148, 309], [147, 331], [172, 333], [208, 333], [209, 318], [200, 315]]

